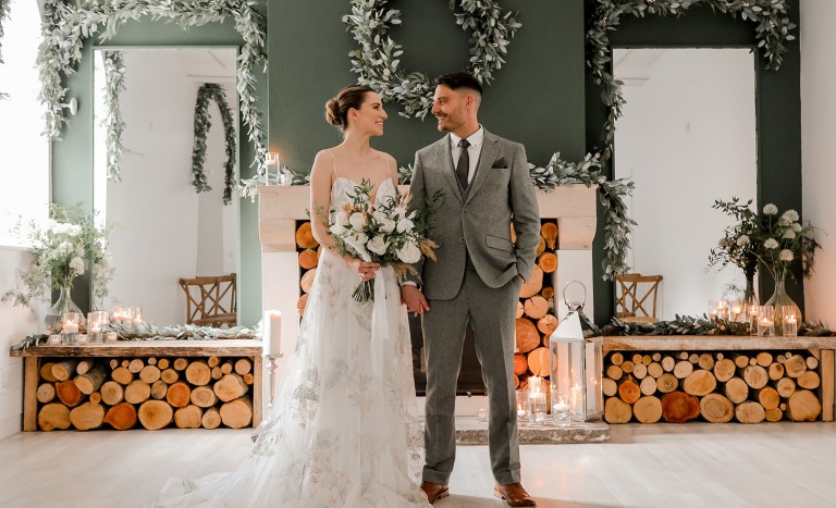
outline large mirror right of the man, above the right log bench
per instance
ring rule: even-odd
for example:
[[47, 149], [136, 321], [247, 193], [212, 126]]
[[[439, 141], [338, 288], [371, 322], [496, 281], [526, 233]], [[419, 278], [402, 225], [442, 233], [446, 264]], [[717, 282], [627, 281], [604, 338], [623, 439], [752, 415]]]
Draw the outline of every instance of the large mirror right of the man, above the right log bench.
[[628, 263], [664, 277], [659, 319], [703, 314], [709, 300], [745, 286], [736, 267], [706, 265], [732, 224], [714, 200], [757, 196], [754, 58], [748, 48], [613, 50], [626, 100], [614, 173], [636, 183]]

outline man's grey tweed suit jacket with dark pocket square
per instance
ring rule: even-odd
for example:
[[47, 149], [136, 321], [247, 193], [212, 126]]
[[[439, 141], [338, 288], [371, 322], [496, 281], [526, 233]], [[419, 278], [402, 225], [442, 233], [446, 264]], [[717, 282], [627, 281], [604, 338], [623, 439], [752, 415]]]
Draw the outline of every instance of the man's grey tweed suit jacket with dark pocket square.
[[[528, 280], [540, 241], [540, 212], [522, 145], [484, 131], [476, 174], [463, 193], [450, 135], [444, 136], [415, 154], [411, 206], [421, 209], [437, 190], [444, 198], [429, 236], [440, 246], [438, 259], [416, 265], [428, 299], [456, 296], [468, 253], [489, 287], [502, 287], [518, 273]], [[516, 243], [511, 240], [511, 223]]]

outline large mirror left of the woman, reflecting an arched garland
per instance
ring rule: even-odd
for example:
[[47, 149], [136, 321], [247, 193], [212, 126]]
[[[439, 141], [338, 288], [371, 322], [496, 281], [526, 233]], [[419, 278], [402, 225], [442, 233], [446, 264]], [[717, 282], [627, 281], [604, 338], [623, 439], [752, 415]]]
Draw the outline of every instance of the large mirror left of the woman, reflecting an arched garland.
[[[103, 62], [110, 51], [118, 51], [124, 70], [124, 89], [115, 97], [124, 122], [121, 182], [107, 175], [103, 121], [106, 101], [114, 96]], [[236, 49], [98, 48], [94, 53], [94, 201], [100, 216], [116, 224], [110, 243], [115, 271], [100, 305], [139, 306], [148, 323], [183, 324], [181, 277], [237, 271], [238, 207], [237, 199], [230, 205], [222, 199], [226, 145], [216, 101], [209, 102], [204, 163], [211, 190], [196, 193], [192, 173], [195, 103], [204, 84], [223, 87], [237, 128]]]

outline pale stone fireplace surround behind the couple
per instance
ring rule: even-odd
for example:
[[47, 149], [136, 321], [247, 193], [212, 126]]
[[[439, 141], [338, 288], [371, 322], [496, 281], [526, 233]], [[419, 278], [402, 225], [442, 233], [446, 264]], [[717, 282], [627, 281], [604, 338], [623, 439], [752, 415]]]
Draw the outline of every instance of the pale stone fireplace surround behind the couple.
[[[407, 187], [402, 187], [406, 190]], [[542, 219], [557, 221], [558, 268], [552, 286], [558, 289], [568, 281], [581, 281], [588, 292], [588, 314], [592, 309], [592, 239], [595, 236], [595, 187], [576, 185], [538, 190]], [[263, 309], [280, 310], [285, 317], [298, 317], [300, 296], [299, 267], [296, 253], [297, 221], [308, 220], [309, 186], [262, 186], [258, 189], [258, 231], [261, 240], [261, 287]], [[560, 293], [556, 299], [560, 303]], [[557, 317], [565, 314], [557, 305]], [[282, 320], [282, 349], [293, 347], [298, 333], [298, 319]]]

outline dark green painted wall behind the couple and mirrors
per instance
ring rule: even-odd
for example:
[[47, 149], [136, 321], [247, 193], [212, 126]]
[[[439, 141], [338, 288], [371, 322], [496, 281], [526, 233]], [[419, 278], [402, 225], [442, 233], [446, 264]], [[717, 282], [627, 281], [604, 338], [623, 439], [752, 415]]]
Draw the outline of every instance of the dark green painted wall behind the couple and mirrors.
[[[600, 90], [586, 75], [585, 26], [595, 0], [503, 0], [506, 10], [518, 12], [522, 28], [509, 46], [507, 63], [485, 89], [480, 120], [499, 135], [526, 145], [529, 159], [545, 163], [560, 151], [578, 159], [598, 146], [604, 110]], [[798, 23], [798, 0], [790, 0], [790, 15]], [[468, 60], [468, 41], [447, 10], [447, 2], [393, 1], [401, 9], [402, 26], [392, 36], [403, 45], [402, 65], [430, 77], [463, 69]], [[282, 163], [307, 173], [316, 152], [340, 143], [339, 133], [323, 120], [325, 101], [356, 77], [347, 53], [355, 48], [342, 16], [349, 10], [346, 0], [270, 0], [267, 2], [268, 55], [270, 69], [259, 79], [259, 97], [269, 128], [268, 145], [279, 150]], [[749, 22], [692, 8], [681, 17], [625, 17], [611, 33], [618, 46], [753, 46]], [[798, 33], [796, 33], [798, 37]], [[234, 26], [205, 26], [183, 30], [164, 22], [143, 20], [120, 29], [115, 46], [239, 45]], [[53, 199], [61, 203], [91, 202], [91, 44], [85, 46], [78, 73], [67, 79], [70, 96], [77, 97], [79, 113], [53, 144]], [[782, 209], [801, 209], [800, 55], [798, 41], [780, 72], [763, 70], [758, 60], [758, 150], [759, 200], [773, 201]], [[269, 87], [268, 87], [269, 83]], [[439, 138], [430, 120], [403, 119], [389, 106], [386, 134], [373, 143], [405, 165], [416, 149]], [[246, 134], [242, 131], [242, 135]], [[246, 137], [241, 156], [247, 176], [251, 151]], [[718, 196], [720, 197], [720, 196]], [[599, 218], [602, 216], [599, 210]], [[603, 224], [600, 223], [599, 227]], [[239, 307], [245, 324], [259, 319], [260, 251], [257, 211], [242, 201]], [[594, 244], [594, 267], [600, 274], [603, 259], [601, 235]], [[270, 284], [280, 284], [271, 281]], [[762, 287], [769, 287], [767, 285]], [[792, 298], [803, 302], [800, 287], [790, 287]], [[595, 321], [608, 321], [613, 287], [595, 277]], [[86, 297], [82, 299], [86, 301]]]

